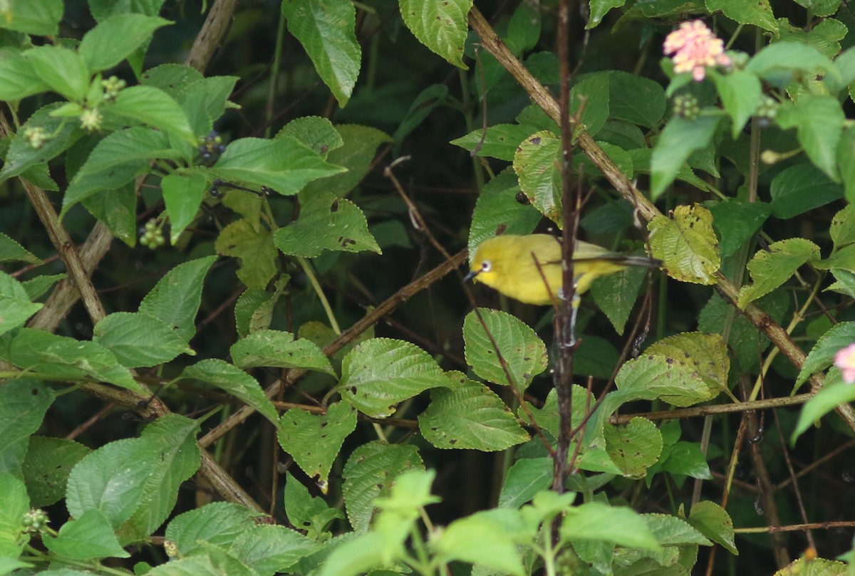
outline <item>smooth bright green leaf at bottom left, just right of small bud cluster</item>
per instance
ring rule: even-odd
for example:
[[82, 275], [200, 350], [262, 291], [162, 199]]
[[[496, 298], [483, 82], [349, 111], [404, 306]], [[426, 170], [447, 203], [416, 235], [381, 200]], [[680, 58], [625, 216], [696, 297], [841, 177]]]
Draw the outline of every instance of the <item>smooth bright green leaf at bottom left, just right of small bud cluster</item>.
[[72, 560], [130, 557], [119, 545], [109, 521], [97, 509], [86, 510], [79, 518], [68, 520], [56, 538], [46, 536], [42, 542], [54, 554]]

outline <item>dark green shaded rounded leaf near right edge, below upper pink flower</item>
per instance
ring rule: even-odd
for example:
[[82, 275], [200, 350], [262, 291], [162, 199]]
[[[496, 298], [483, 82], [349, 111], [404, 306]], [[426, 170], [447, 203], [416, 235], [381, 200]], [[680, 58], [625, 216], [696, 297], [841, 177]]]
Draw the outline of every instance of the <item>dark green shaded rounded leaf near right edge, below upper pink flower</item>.
[[788, 219], [843, 197], [843, 186], [811, 164], [781, 170], [770, 186], [772, 215]]

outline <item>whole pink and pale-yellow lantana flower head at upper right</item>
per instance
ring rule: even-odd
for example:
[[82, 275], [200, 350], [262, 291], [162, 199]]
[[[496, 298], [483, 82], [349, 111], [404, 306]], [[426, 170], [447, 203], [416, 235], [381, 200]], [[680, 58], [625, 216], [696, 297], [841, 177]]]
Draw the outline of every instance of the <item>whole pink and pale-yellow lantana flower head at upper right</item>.
[[664, 52], [674, 62], [674, 72], [691, 72], [700, 82], [710, 66], [730, 66], [730, 56], [724, 53], [724, 43], [706, 27], [695, 20], [683, 22], [665, 38]]

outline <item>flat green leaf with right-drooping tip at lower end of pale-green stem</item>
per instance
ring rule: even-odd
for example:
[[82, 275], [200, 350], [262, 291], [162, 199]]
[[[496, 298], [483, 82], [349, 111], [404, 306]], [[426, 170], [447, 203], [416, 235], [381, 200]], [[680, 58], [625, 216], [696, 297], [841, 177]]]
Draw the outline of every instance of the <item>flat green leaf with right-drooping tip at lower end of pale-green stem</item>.
[[333, 367], [321, 348], [307, 340], [294, 340], [291, 332], [257, 330], [232, 344], [229, 352], [235, 366], [308, 368], [333, 374]]

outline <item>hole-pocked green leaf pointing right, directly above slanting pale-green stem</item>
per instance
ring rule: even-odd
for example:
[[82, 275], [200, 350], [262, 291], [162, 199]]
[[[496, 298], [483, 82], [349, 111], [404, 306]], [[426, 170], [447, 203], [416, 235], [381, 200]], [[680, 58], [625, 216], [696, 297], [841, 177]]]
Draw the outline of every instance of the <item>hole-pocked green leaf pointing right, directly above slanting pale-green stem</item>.
[[274, 242], [284, 254], [305, 258], [321, 256], [323, 250], [382, 253], [363, 211], [332, 194], [307, 198], [299, 218], [274, 232]]

